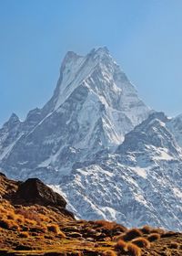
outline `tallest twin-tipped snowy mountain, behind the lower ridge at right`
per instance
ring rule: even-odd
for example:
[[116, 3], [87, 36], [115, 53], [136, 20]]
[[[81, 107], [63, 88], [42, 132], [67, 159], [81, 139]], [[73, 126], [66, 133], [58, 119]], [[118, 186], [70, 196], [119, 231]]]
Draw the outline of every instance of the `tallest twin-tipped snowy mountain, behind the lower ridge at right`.
[[0, 166], [14, 178], [57, 183], [76, 162], [121, 144], [149, 112], [107, 48], [68, 52], [51, 100], [0, 130]]

